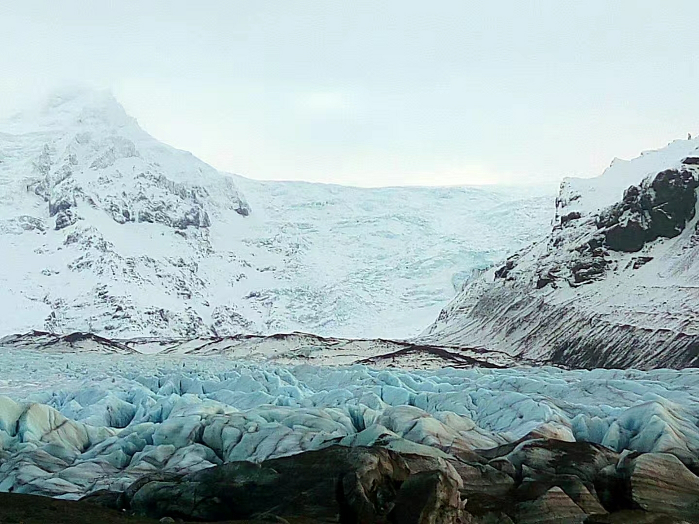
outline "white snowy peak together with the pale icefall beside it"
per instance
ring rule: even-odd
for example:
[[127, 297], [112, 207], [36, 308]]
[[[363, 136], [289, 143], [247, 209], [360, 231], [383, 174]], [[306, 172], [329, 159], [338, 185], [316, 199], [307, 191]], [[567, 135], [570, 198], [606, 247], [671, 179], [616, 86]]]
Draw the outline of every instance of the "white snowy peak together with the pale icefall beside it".
[[255, 182], [159, 143], [109, 94], [56, 95], [0, 125], [0, 335], [409, 337], [552, 208]]

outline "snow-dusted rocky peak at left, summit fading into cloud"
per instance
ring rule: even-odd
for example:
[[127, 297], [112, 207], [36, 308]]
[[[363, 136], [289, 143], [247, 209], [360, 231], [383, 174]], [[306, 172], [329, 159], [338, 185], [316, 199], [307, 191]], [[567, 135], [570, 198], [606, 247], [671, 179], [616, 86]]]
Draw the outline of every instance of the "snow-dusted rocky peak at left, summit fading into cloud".
[[231, 177], [157, 142], [104, 93], [57, 95], [3, 131], [3, 332], [237, 326], [224, 305], [194, 306], [210, 225], [236, 228], [250, 212]]

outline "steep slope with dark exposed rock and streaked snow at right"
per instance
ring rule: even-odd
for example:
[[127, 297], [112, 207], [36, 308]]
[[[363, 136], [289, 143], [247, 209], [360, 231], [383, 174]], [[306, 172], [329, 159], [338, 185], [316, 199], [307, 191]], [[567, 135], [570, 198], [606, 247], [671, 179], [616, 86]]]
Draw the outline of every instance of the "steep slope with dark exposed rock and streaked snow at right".
[[699, 364], [699, 140], [561, 184], [545, 240], [493, 267], [422, 335], [572, 367]]

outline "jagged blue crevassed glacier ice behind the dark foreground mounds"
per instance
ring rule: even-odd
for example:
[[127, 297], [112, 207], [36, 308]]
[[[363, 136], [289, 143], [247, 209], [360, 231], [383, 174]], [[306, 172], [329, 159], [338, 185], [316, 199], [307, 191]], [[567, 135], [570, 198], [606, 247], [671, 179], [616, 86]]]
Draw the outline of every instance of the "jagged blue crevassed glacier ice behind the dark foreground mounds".
[[333, 443], [445, 456], [528, 435], [699, 452], [699, 371], [379, 370], [0, 348], [0, 489], [79, 497]]

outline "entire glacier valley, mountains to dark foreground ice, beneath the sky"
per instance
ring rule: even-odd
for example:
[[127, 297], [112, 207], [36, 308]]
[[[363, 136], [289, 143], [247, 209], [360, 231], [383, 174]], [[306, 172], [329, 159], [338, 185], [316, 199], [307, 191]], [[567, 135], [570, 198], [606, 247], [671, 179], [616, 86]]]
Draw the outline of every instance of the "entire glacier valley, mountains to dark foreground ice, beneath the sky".
[[219, 173], [103, 93], [0, 131], [0, 491], [113, 522], [699, 522], [698, 140], [554, 201]]

